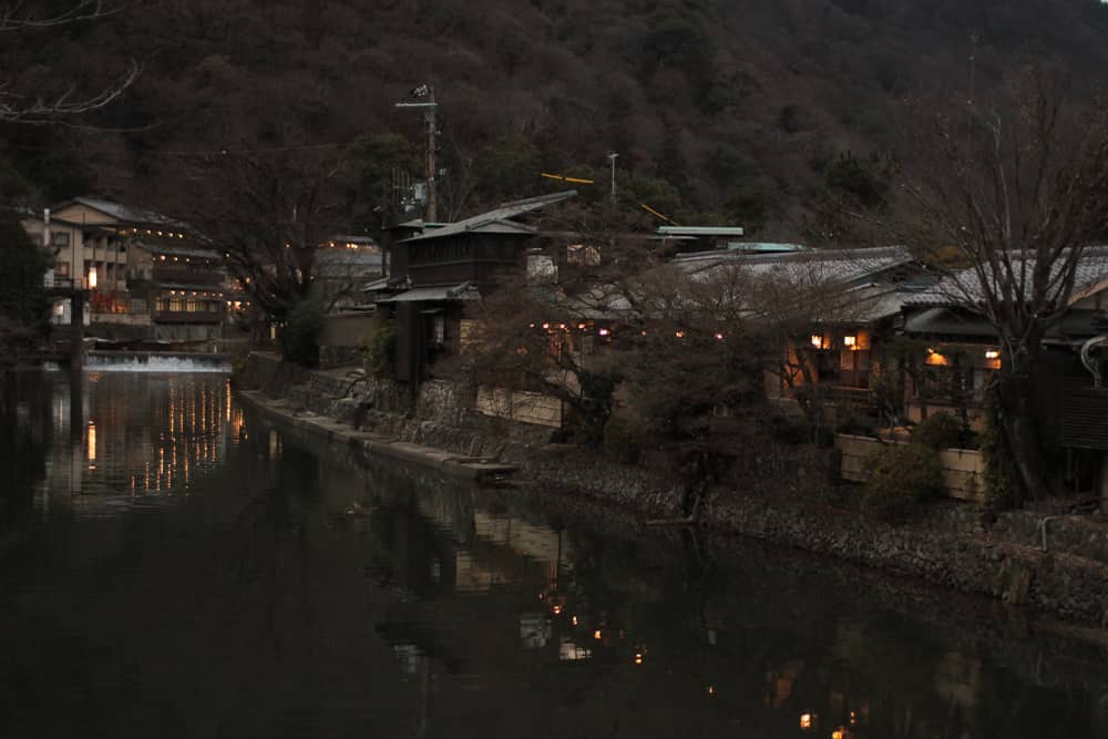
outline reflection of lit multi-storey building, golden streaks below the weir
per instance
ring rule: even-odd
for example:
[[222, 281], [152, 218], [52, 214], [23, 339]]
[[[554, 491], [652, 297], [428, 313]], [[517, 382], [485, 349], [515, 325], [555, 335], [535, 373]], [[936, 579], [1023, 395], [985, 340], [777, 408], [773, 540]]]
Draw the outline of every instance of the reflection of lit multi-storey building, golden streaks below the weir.
[[115, 510], [121, 497], [188, 495], [245, 439], [229, 379], [55, 373], [51, 444], [35, 507]]

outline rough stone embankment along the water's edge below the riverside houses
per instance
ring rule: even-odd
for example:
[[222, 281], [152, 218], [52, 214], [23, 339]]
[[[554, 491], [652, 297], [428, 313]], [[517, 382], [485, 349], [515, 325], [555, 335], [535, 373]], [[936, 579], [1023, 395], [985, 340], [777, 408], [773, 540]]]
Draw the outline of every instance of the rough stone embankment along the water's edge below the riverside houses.
[[[420, 398], [403, 398], [396, 387], [343, 370], [310, 372], [266, 355], [252, 355], [237, 383], [243, 398], [264, 412], [370, 456], [474, 481], [510, 479], [643, 517], [673, 517], [679, 510], [675, 476], [551, 443], [548, 429], [481, 418], [447, 383], [427, 383]], [[768, 468], [788, 463], [783, 453], [761, 453]], [[1043, 517], [1025, 512], [994, 521], [966, 507], [940, 506], [924, 522], [891, 526], [813, 502], [818, 496], [806, 499], [806, 490], [823, 480], [818, 465], [790, 472], [788, 494], [757, 485], [741, 493], [715, 491], [700, 522], [720, 533], [1108, 627], [1108, 526], [1079, 516], [1051, 517], [1045, 550], [1038, 540]]]

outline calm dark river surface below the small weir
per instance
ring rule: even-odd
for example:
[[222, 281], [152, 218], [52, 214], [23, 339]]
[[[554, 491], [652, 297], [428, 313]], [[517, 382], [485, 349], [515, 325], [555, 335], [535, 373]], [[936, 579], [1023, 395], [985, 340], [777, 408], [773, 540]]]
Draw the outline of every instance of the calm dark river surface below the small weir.
[[940, 591], [366, 469], [226, 378], [0, 382], [0, 736], [1108, 736], [1105, 651]]

